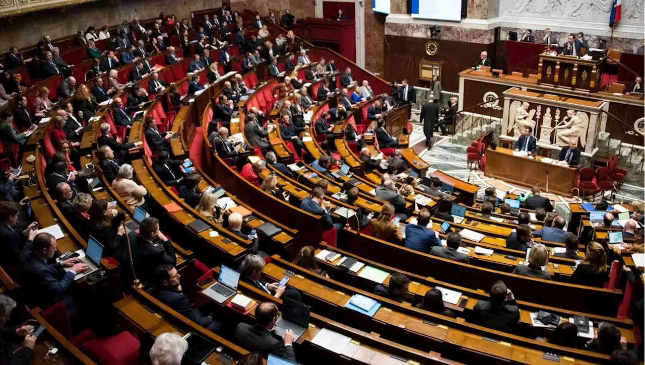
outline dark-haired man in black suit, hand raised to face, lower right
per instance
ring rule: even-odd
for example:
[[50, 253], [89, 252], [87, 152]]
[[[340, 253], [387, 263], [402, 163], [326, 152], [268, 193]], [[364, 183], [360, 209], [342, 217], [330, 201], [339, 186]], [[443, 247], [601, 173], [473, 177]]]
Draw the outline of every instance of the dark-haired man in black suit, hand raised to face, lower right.
[[506, 284], [497, 281], [488, 292], [490, 301], [479, 301], [473, 308], [475, 322], [497, 331], [511, 332], [520, 320], [520, 310]]

